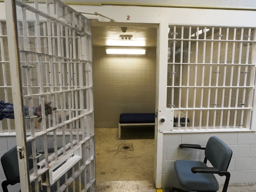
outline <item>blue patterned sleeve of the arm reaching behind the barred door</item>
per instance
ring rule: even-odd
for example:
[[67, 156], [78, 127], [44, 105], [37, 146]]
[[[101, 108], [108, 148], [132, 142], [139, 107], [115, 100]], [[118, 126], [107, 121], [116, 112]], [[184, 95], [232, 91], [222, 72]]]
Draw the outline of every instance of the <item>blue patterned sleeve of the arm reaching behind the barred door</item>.
[[[33, 115], [36, 114], [37, 107], [33, 107]], [[29, 107], [24, 106], [24, 115], [29, 115]], [[0, 120], [4, 118], [14, 119], [14, 110], [12, 103], [5, 103], [3, 100], [0, 100]]]

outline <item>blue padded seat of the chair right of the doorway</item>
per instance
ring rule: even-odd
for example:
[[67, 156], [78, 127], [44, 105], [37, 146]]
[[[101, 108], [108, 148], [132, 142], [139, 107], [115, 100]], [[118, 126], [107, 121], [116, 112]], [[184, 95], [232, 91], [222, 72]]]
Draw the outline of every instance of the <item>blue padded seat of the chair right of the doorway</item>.
[[198, 191], [218, 191], [219, 184], [210, 173], [192, 173], [192, 167], [207, 167], [201, 161], [177, 160], [174, 163], [177, 178], [182, 188], [186, 190]]

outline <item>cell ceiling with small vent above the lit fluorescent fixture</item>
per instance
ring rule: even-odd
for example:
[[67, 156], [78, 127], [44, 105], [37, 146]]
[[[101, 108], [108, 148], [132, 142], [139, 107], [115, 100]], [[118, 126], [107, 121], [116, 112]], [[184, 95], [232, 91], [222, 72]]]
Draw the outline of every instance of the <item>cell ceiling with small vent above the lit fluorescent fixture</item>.
[[[93, 26], [93, 46], [157, 46], [156, 26], [128, 26], [125, 33], [121, 26]], [[120, 40], [120, 35], [132, 35], [132, 40]]]

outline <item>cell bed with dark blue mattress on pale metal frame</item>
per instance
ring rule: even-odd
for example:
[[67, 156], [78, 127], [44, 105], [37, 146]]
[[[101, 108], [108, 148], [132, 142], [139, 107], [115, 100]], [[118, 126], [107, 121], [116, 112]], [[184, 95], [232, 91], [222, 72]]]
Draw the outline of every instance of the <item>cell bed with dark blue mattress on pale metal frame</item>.
[[[186, 118], [180, 118], [180, 125], [185, 127]], [[121, 126], [155, 125], [155, 113], [122, 113], [118, 124], [118, 138], [121, 138]], [[173, 126], [178, 125], [178, 118], [173, 117]], [[187, 119], [189, 127], [189, 119]]]

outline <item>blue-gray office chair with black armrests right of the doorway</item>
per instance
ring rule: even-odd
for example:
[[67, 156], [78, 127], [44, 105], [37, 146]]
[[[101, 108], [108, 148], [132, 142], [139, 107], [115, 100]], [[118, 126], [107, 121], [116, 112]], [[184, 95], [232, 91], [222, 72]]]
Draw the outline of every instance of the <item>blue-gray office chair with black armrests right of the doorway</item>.
[[[179, 147], [205, 150], [205, 160], [204, 162], [193, 160], [175, 161], [174, 168], [177, 179], [183, 189], [173, 187], [169, 192], [185, 192], [188, 190], [198, 192], [218, 191], [219, 184], [214, 174], [226, 177], [222, 192], [227, 191], [230, 179], [230, 173], [227, 168], [232, 157], [230, 147], [216, 136], [209, 138], [206, 147], [193, 144], [180, 144]], [[206, 165], [207, 160], [213, 167]]]

